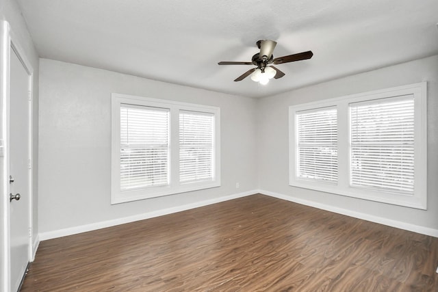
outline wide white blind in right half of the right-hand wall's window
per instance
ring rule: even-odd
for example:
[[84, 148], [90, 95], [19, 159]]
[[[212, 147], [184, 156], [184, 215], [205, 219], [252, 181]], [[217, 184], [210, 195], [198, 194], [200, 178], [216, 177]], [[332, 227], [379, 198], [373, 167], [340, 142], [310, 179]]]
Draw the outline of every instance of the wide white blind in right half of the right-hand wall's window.
[[413, 95], [350, 104], [350, 184], [413, 194]]

